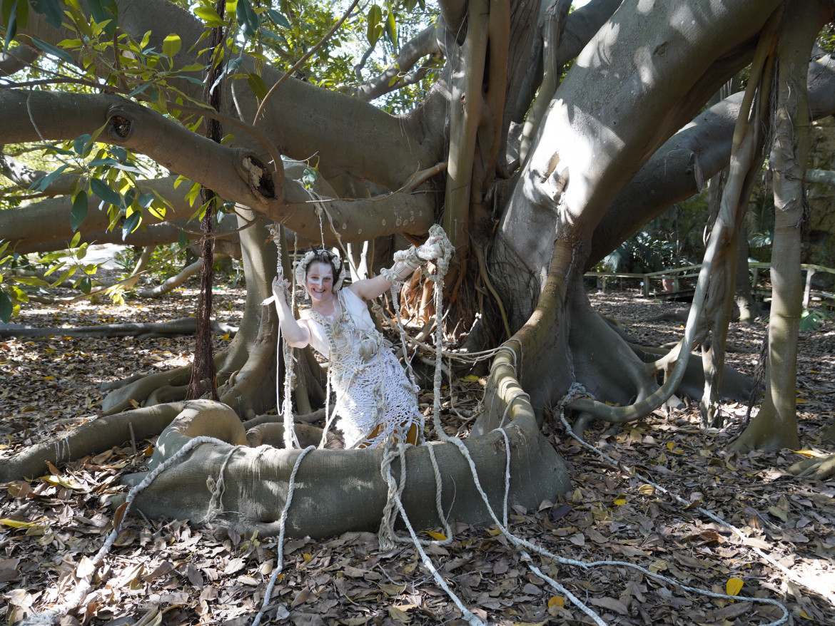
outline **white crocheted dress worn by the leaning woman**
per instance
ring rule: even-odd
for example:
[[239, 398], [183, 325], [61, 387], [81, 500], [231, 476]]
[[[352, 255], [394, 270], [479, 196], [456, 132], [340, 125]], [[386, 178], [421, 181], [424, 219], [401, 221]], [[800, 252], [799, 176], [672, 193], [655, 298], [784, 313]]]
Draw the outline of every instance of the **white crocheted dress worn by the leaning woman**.
[[[299, 316], [311, 331], [311, 345], [330, 361], [337, 394], [336, 427], [345, 447], [382, 445], [388, 435], [404, 439], [412, 425], [420, 431], [418, 387], [413, 386], [392, 353], [392, 344], [374, 327], [365, 302], [349, 288], [339, 290], [342, 312], [336, 322], [311, 309]], [[382, 424], [382, 432], [369, 439]], [[418, 433], [423, 441], [423, 433]]]

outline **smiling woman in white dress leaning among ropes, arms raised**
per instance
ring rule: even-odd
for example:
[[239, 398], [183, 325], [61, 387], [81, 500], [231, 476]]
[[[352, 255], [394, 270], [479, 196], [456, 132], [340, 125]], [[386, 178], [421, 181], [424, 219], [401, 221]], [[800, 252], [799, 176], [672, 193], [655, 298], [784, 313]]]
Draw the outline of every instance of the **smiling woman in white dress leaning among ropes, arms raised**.
[[[307, 345], [325, 356], [328, 375], [337, 393], [336, 427], [345, 447], [379, 447], [387, 437], [412, 445], [423, 442], [417, 387], [392, 353], [392, 345], [374, 326], [366, 300], [382, 295], [412, 275], [417, 267], [442, 255], [431, 237], [419, 248], [394, 255], [391, 269], [374, 278], [357, 280], [341, 289], [345, 266], [328, 250], [311, 250], [296, 264], [296, 283], [311, 300], [296, 320], [287, 304], [289, 281], [272, 282], [281, 332], [290, 346]], [[281, 289], [284, 287], [285, 289]]]

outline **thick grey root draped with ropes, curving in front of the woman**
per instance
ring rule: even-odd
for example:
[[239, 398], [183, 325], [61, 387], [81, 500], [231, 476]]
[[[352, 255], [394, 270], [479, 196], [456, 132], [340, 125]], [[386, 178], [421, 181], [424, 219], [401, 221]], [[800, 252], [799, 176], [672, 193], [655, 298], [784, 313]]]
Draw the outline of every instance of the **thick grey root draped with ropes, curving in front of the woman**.
[[[214, 502], [222, 505], [213, 508], [214, 519], [241, 531], [277, 533], [284, 504], [281, 494], [286, 493], [286, 482], [301, 450], [245, 446], [240, 442], [243, 426], [233, 419], [234, 411], [209, 401], [201, 401], [199, 406], [191, 403], [189, 407], [197, 410], [172, 422], [159, 437], [159, 454], [155, 452], [150, 464], [163, 462], [195, 433], [213, 437], [220, 434], [219, 438], [230, 445], [207, 443], [195, 448], [137, 497], [137, 509], [149, 517], [204, 519], [207, 502]], [[539, 433], [530, 405], [520, 400], [512, 408], [512, 426], [506, 430], [513, 477], [510, 499], [512, 503], [535, 507], [545, 497], [553, 499], [566, 491], [568, 476], [561, 459]], [[204, 415], [210, 417], [204, 420]], [[488, 512], [461, 453], [452, 444], [429, 445], [441, 467], [443, 511], [449, 520], [487, 521]], [[493, 507], [498, 506], [504, 497], [504, 436], [493, 432], [470, 438], [465, 445], [477, 464], [482, 484], [489, 486], [490, 502]], [[319, 538], [377, 528], [387, 498], [387, 485], [380, 474], [382, 454], [382, 450], [312, 451], [296, 477], [293, 506], [286, 524], [288, 535]], [[435, 512], [435, 478], [429, 456], [428, 446], [410, 447], [406, 452], [408, 487], [403, 503], [412, 523], [421, 528], [441, 523]], [[392, 469], [399, 473], [397, 463]], [[132, 481], [141, 477], [134, 475]], [[218, 491], [220, 485], [222, 492]]]

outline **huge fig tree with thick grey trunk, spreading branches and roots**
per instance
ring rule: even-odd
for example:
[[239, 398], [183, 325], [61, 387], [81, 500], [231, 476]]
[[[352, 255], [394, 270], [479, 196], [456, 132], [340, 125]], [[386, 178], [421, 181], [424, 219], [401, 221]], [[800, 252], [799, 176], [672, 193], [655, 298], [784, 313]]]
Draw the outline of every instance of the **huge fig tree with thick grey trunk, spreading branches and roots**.
[[[820, 117], [835, 110], [832, 59], [810, 63], [809, 54], [832, 16], [828, 0], [592, 0], [573, 12], [565, 0], [442, 0], [425, 22], [431, 25], [402, 43], [388, 68], [363, 78], [363, 57], [357, 78], [345, 84], [335, 84], [323, 66], [325, 42], [305, 55], [296, 45], [300, 20], [313, 7], [301, 0], [237, 0], [225, 13], [214, 4], [182, 8], [167, 0], [11, 4], [14, 11], [3, 15], [0, 144], [50, 146], [63, 165], [38, 172], [4, 155], [9, 179], [49, 196], [0, 211], [7, 250], [83, 245], [108, 236], [113, 225], [128, 241], [158, 226], [159, 241], [173, 240], [178, 231], [164, 223], [182, 227], [176, 220], [195, 212], [190, 200], [203, 185], [237, 215], [247, 299], [235, 340], [215, 356], [224, 406], [184, 401], [188, 368], [124, 381], [104, 401], [109, 416], [70, 433], [67, 445], [34, 447], [4, 462], [0, 477], [7, 480], [37, 472], [47, 460], [124, 441], [130, 428], [149, 437], [171, 425], [160, 437], [163, 457], [184, 437], [201, 434], [242, 445], [240, 421], [276, 406], [276, 319], [261, 305], [276, 270], [267, 226], [284, 228], [285, 252], [296, 236], [352, 250], [366, 245], [376, 250], [370, 263], [378, 267], [397, 241], [420, 241], [439, 223], [456, 250], [438, 311], [448, 333], [457, 331], [464, 351], [502, 348], [490, 364], [477, 436], [467, 443], [481, 481], [496, 502], [509, 454], [517, 502], [554, 497], [568, 479], [539, 434], [546, 407], [573, 389], [579, 396], [569, 407], [579, 424], [626, 422], [660, 406], [681, 384], [694, 386], [688, 376], [701, 376], [701, 363], [691, 366], [696, 346], [713, 341], [711, 351], [721, 351], [724, 333], [706, 320], [722, 318], [706, 315], [705, 304], [723, 305], [711, 277], [733, 275], [723, 260], [736, 258], [729, 250], [745, 203], [738, 193], [726, 199], [685, 335], [669, 355], [631, 345], [598, 316], [584, 272], [729, 164], [731, 176], [734, 167], [758, 167], [767, 141], [746, 134], [753, 127], [774, 126], [779, 144], [771, 166], [776, 180], [787, 181], [779, 192], [787, 196], [781, 228], [797, 229], [792, 215], [802, 191], [791, 186], [792, 172], [804, 153], [791, 147], [792, 129], [807, 124], [807, 111]], [[384, 33], [391, 47], [396, 13], [416, 3], [387, 7], [388, 15], [372, 7], [364, 24], [373, 42]], [[224, 29], [220, 45], [210, 45], [210, 28]], [[330, 49], [335, 67], [344, 63]], [[207, 85], [213, 64], [222, 72]], [[746, 90], [706, 109], [749, 66]], [[219, 111], [205, 103], [213, 88], [224, 90]], [[419, 98], [407, 107], [405, 96], [392, 95], [397, 89]], [[772, 89], [782, 98], [776, 115], [767, 104]], [[784, 102], [790, 93], [796, 102]], [[207, 119], [222, 124], [222, 142], [205, 138]], [[139, 154], [162, 174], [146, 169], [140, 177]], [[797, 237], [775, 250], [787, 255], [781, 271], [797, 270], [790, 260]], [[775, 280], [775, 287], [791, 281]], [[16, 289], [7, 292], [19, 295]], [[428, 294], [416, 281], [404, 295], [429, 316], [435, 311]], [[791, 306], [786, 310], [781, 320], [793, 316]], [[790, 325], [772, 331], [772, 341], [792, 332]], [[780, 346], [788, 346], [785, 359], [772, 359], [772, 370], [793, 367], [796, 344]], [[721, 358], [716, 362], [721, 370]], [[303, 356], [300, 365], [310, 376], [297, 404], [316, 408], [316, 365]], [[700, 378], [695, 388], [702, 384]], [[770, 385], [773, 397], [783, 397], [793, 379], [775, 374]], [[136, 403], [143, 408], [128, 411]], [[490, 432], [500, 425], [509, 439]], [[462, 487], [473, 478], [460, 452], [452, 444], [435, 448], [449, 487], [445, 510], [484, 519], [483, 503]], [[300, 453], [207, 444], [137, 504], [148, 514], [213, 515], [276, 530]], [[386, 499], [381, 455], [320, 450], [306, 457], [291, 532], [373, 527]], [[418, 523], [437, 523], [427, 448], [410, 450], [405, 462], [407, 510]], [[208, 512], [206, 476], [224, 474], [225, 510]]]

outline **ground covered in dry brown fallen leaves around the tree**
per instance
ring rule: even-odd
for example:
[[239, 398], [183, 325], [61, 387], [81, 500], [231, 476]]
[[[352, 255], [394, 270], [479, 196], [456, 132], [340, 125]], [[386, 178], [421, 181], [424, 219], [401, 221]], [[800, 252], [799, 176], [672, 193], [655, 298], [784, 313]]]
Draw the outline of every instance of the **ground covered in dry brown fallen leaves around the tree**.
[[[244, 292], [215, 290], [219, 321], [237, 326]], [[648, 345], [675, 341], [678, 323], [648, 321], [682, 305], [640, 297], [635, 290], [591, 295]], [[119, 321], [164, 321], [194, 310], [195, 290], [160, 301], [38, 305], [15, 321], [32, 326], [93, 326]], [[764, 324], [731, 330], [729, 360], [751, 374]], [[216, 346], [228, 338], [216, 337]], [[725, 452], [745, 414], [724, 406], [726, 428], [703, 429], [696, 406], [660, 413], [618, 434], [589, 432], [615, 467], [579, 447], [557, 422], [546, 434], [564, 457], [573, 492], [516, 507], [510, 528], [564, 558], [586, 563], [635, 563], [693, 588], [774, 598], [788, 623], [835, 623], [835, 482], [798, 480], [787, 467], [803, 455], [835, 452], [822, 446], [835, 395], [832, 322], [801, 338], [798, 397], [804, 452], [736, 455]], [[180, 366], [193, 340], [133, 338], [0, 340], [0, 455], [56, 437], [94, 420], [99, 385], [138, 372]], [[448, 430], [466, 430], [478, 411], [482, 382], [468, 376], [444, 390]], [[450, 406], [450, 396], [454, 396]], [[424, 396], [424, 399], [426, 397]], [[126, 442], [43, 477], [0, 487], [0, 615], [8, 623], [49, 608], [79, 579], [93, 591], [63, 624], [251, 623], [276, 567], [275, 538], [240, 536], [225, 528], [165, 519], [132, 518], [101, 568], [90, 558], [112, 528], [111, 498], [119, 477], [144, 463], [153, 442]], [[646, 485], [662, 484], [692, 506], [681, 507]], [[741, 528], [743, 543], [711, 521], [704, 507]], [[453, 542], [428, 554], [450, 588], [488, 623], [593, 623], [535, 574], [495, 527], [453, 528]], [[424, 529], [436, 534], [439, 528]], [[428, 533], [423, 536], [428, 538]], [[760, 548], [780, 563], [767, 563]], [[283, 547], [285, 567], [266, 617], [274, 623], [457, 623], [461, 613], [420, 562], [410, 544], [381, 553], [370, 533], [326, 541], [297, 539]], [[706, 598], [610, 564], [584, 570], [534, 556], [545, 576], [564, 585], [609, 624], [761, 624], [779, 618], [768, 604]], [[781, 569], [782, 568], [782, 569]], [[783, 570], [783, 571], [782, 571]]]

